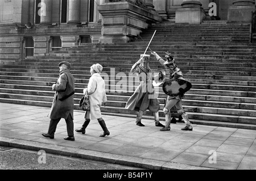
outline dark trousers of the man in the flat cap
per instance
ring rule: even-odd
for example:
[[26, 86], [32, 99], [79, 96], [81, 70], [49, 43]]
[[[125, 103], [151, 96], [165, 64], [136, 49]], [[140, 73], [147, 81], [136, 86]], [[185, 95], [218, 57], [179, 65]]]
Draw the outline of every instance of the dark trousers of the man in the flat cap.
[[[54, 135], [56, 132], [57, 124], [59, 123], [61, 118], [58, 119], [51, 119], [48, 129], [48, 134]], [[71, 114], [68, 115], [68, 119], [65, 119], [67, 124], [67, 132], [68, 136], [74, 136], [74, 123]]]

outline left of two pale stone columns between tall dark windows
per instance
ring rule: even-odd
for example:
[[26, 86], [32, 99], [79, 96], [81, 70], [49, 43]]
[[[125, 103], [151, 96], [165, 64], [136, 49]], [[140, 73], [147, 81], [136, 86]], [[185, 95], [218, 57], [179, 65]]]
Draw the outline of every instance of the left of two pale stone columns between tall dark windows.
[[41, 9], [40, 24], [51, 25], [52, 24], [52, 0], [42, 0], [40, 9]]

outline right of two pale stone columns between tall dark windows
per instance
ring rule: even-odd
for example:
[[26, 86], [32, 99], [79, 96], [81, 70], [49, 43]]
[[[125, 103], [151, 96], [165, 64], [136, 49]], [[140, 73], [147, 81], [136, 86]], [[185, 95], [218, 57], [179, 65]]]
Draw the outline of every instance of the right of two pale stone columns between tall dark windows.
[[68, 24], [80, 24], [80, 0], [68, 1]]

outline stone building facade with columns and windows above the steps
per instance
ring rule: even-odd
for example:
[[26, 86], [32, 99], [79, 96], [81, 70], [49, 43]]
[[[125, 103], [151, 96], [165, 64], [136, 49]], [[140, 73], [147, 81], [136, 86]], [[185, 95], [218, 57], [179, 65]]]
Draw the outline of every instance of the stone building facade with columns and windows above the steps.
[[253, 21], [255, 0], [0, 0], [0, 60], [82, 43], [118, 43], [152, 23]]

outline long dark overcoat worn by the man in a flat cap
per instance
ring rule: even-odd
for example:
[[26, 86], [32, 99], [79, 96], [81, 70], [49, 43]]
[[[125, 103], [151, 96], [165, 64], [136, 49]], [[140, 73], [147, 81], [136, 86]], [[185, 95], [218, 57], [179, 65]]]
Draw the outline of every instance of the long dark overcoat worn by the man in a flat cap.
[[57, 91], [63, 91], [66, 89], [67, 82], [75, 90], [75, 79], [69, 70], [64, 70], [60, 73], [59, 78], [57, 79], [56, 85], [54, 87], [55, 95], [52, 101], [52, 107], [48, 114], [50, 119], [67, 119], [68, 115], [71, 114], [73, 119], [74, 112], [74, 95], [70, 96], [65, 100], [59, 100], [57, 96]]

